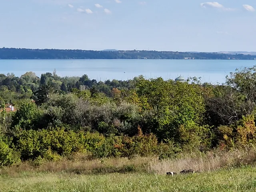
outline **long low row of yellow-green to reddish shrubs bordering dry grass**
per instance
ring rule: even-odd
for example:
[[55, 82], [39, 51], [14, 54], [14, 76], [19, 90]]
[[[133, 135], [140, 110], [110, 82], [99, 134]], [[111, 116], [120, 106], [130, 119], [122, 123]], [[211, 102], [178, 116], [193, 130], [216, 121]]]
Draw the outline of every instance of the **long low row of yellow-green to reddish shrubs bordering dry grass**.
[[[64, 131], [64, 128], [54, 130], [23, 130], [14, 136], [14, 150], [20, 153], [22, 160], [57, 161], [62, 156], [76, 152], [91, 153], [94, 158], [133, 157], [162, 155], [164, 150], [170, 157], [178, 152], [170, 144], [158, 146], [156, 136], [143, 135], [141, 130], [136, 136], [110, 136], [105, 138], [99, 133]], [[7, 148], [11, 150], [10, 148]]]

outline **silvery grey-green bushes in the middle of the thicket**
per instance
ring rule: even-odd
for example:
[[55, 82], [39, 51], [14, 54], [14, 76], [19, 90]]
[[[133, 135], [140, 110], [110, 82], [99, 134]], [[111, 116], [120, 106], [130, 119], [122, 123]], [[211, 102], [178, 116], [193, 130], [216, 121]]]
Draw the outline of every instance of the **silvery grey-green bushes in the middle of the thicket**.
[[[74, 91], [81, 93], [80, 90]], [[44, 121], [51, 126], [66, 124], [74, 130], [90, 128], [105, 135], [133, 134], [140, 120], [138, 108], [134, 104], [116, 104], [109, 102], [108, 98], [78, 98], [74, 93], [50, 95], [42, 108]]]

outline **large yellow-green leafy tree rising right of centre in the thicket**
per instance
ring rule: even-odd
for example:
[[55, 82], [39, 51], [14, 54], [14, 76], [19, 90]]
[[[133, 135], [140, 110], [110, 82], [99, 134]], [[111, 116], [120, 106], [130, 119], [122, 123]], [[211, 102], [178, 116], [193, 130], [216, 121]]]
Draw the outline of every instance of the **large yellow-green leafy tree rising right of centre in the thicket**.
[[147, 106], [144, 110], [151, 111], [151, 120], [144, 127], [153, 125], [150, 131], [157, 134], [160, 140], [174, 138], [182, 142], [178, 131], [180, 126], [188, 128], [190, 124], [202, 123], [205, 104], [199, 85], [158, 78], [141, 79], [136, 87], [138, 100], [148, 104], [143, 104]]

